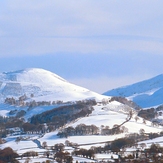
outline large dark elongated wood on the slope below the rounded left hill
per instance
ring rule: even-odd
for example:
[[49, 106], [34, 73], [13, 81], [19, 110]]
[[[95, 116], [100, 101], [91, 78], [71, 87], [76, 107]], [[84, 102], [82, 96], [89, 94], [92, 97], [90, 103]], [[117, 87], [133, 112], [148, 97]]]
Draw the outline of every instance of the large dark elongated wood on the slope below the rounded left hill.
[[59, 128], [79, 117], [85, 117], [91, 114], [92, 111], [93, 107], [85, 103], [60, 106], [31, 117], [31, 123], [42, 124], [53, 122]]

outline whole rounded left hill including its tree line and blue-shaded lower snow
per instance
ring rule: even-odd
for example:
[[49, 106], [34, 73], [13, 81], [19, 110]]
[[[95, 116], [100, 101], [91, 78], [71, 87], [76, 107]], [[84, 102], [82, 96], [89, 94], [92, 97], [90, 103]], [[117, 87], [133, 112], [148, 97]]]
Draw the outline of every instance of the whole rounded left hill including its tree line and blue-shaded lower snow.
[[62, 77], [38, 68], [30, 68], [0, 74], [0, 115], [24, 117], [75, 101], [95, 99], [102, 101], [107, 96], [69, 83]]

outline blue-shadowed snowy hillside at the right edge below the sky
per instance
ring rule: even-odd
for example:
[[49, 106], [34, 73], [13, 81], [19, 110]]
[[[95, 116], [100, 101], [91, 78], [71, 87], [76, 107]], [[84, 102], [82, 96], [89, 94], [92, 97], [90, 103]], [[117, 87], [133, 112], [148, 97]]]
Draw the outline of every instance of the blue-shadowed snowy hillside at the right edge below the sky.
[[132, 85], [109, 90], [103, 95], [127, 97], [142, 108], [161, 105], [163, 104], [163, 74]]

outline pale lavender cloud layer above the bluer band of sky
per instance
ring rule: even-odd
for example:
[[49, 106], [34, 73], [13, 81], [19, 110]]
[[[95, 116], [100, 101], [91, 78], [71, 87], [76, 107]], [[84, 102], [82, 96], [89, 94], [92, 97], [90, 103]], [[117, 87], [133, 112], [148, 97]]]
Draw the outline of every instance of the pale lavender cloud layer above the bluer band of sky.
[[2, 1], [0, 57], [101, 55], [112, 50], [161, 54], [162, 4], [160, 0]]

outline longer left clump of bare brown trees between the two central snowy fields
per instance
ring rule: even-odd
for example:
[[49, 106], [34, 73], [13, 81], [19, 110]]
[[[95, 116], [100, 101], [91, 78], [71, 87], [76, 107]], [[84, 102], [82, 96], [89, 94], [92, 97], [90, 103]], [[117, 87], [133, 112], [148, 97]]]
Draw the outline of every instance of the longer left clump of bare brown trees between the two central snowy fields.
[[99, 128], [95, 125], [79, 124], [75, 128], [67, 127], [58, 132], [59, 137], [68, 137], [75, 135], [96, 135], [99, 134]]

